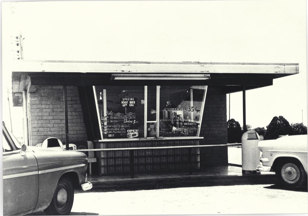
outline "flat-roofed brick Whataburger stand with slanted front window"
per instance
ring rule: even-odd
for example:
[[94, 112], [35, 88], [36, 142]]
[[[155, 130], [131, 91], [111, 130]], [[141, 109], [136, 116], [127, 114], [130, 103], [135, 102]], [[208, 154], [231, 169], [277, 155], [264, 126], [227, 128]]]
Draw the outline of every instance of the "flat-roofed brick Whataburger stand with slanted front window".
[[[226, 94], [297, 73], [298, 64], [20, 60], [13, 106], [24, 107], [30, 146], [48, 137], [95, 149], [216, 145], [135, 151], [136, 172], [187, 170], [188, 161], [198, 170], [228, 163]], [[95, 173], [129, 172], [129, 150], [95, 157]]]

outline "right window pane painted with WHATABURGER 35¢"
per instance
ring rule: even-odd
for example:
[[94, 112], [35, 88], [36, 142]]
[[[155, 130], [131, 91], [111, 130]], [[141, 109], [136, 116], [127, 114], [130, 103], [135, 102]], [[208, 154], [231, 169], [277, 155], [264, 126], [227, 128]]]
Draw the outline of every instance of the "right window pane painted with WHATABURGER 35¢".
[[206, 86], [160, 86], [159, 137], [199, 136]]

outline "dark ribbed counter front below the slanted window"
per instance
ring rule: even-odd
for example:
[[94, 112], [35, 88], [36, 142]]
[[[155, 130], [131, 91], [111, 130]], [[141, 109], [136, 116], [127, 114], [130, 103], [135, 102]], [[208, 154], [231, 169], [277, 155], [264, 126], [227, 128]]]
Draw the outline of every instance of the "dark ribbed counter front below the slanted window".
[[[95, 141], [95, 149], [198, 146], [198, 138], [118, 139]], [[97, 151], [98, 174], [130, 172], [130, 150]], [[200, 169], [199, 148], [164, 148], [134, 150], [134, 171], [169, 172]]]

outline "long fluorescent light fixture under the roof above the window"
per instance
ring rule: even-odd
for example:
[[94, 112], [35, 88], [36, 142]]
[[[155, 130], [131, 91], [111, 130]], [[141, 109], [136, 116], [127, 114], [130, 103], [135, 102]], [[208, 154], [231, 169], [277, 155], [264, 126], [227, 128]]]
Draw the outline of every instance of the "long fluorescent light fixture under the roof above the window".
[[210, 74], [111, 74], [115, 80], [207, 80]]

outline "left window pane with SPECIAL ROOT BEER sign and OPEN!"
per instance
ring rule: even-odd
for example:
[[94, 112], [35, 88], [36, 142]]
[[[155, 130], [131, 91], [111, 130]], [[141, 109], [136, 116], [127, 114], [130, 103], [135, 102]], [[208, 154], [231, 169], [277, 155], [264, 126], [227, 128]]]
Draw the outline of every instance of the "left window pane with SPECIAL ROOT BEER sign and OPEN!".
[[95, 86], [103, 139], [144, 138], [144, 86]]

